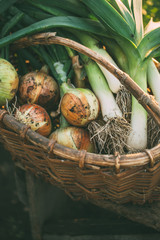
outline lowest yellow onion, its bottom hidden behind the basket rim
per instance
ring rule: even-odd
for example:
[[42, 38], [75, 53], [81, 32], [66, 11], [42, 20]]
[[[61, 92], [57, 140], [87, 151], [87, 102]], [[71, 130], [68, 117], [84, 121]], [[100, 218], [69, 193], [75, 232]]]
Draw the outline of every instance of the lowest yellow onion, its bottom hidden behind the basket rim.
[[94, 145], [90, 141], [89, 133], [84, 128], [78, 127], [64, 127], [59, 128], [49, 136], [50, 139], [54, 139], [57, 143], [73, 148], [76, 150], [86, 150], [87, 152], [94, 152]]

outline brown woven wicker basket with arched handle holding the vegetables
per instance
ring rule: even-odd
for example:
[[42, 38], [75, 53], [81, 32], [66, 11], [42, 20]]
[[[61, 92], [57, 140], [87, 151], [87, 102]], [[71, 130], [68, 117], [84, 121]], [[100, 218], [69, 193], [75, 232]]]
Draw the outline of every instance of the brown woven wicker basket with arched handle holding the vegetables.
[[[30, 44], [67, 45], [107, 68], [108, 63], [100, 56], [94, 56], [94, 52], [87, 48], [84, 51], [84, 48], [73, 46], [70, 40], [64, 40], [69, 42], [67, 44], [63, 40], [53, 34], [47, 35], [47, 38], [46, 34], [38, 34], [19, 40], [14, 48]], [[119, 79], [135, 97], [142, 96], [143, 91], [128, 80], [128, 76], [123, 72], [121, 76]], [[145, 98], [141, 97], [139, 101], [159, 124], [160, 110], [157, 104], [146, 94], [143, 93], [143, 96]], [[24, 169], [63, 189], [72, 199], [87, 199], [99, 206], [108, 200], [120, 204], [160, 200], [160, 145], [127, 155], [77, 151], [39, 135], [5, 110], [0, 110], [0, 142], [11, 153], [15, 163], [20, 163]]]

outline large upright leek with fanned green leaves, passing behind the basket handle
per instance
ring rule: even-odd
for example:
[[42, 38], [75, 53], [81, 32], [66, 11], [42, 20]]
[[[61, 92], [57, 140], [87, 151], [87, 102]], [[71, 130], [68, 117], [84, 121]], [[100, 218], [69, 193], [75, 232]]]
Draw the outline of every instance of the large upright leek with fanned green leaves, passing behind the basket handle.
[[[128, 59], [129, 75], [147, 92], [147, 72], [151, 71], [149, 67], [152, 64], [151, 59], [160, 53], [160, 27], [144, 34], [142, 1], [114, 0], [112, 4], [105, 0], [98, 2], [82, 0], [82, 2], [95, 14], [106, 30], [111, 32], [111, 37], [122, 48]], [[155, 69], [153, 64], [152, 67]], [[153, 84], [154, 79], [151, 82]], [[156, 93], [154, 95], [156, 96]], [[145, 149], [147, 113], [134, 97], [132, 97], [131, 127], [127, 141], [129, 148], [132, 151]]]

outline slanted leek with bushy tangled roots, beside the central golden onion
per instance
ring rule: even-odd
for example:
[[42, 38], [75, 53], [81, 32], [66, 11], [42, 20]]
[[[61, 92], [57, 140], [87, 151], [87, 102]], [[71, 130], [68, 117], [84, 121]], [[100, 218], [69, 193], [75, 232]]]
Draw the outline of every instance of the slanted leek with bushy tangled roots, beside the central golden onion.
[[87, 56], [81, 56], [89, 83], [99, 99], [103, 121], [92, 121], [88, 125], [91, 139], [99, 153], [124, 153], [130, 125], [122, 117], [113, 93], [98, 65]]

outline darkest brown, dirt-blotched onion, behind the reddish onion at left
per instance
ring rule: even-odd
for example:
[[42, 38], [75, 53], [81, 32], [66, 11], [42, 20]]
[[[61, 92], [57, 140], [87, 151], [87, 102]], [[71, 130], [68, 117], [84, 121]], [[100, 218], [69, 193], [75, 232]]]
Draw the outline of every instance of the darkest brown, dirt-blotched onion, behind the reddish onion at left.
[[52, 105], [57, 108], [59, 87], [56, 81], [44, 72], [30, 72], [20, 78], [19, 97], [23, 103]]

